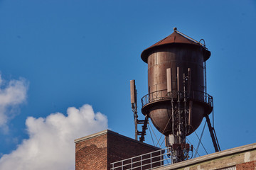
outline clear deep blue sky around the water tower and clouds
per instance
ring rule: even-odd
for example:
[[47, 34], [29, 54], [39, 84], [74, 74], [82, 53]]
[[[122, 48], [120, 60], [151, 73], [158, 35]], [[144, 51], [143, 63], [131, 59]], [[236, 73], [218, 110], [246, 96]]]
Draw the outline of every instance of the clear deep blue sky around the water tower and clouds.
[[[203, 38], [212, 54], [207, 84], [220, 147], [256, 142], [255, 21], [253, 0], [0, 0], [1, 79], [21, 82], [26, 93], [4, 113], [9, 130], [0, 130], [0, 159], [31, 139], [28, 117], [66, 115], [68, 108], [84, 104], [106, 115], [111, 130], [134, 137], [129, 80], [136, 80], [138, 98], [147, 94], [141, 52], [174, 27]], [[152, 143], [147, 134], [146, 142]], [[188, 139], [197, 145], [196, 135]], [[214, 152], [208, 129], [203, 145]]]

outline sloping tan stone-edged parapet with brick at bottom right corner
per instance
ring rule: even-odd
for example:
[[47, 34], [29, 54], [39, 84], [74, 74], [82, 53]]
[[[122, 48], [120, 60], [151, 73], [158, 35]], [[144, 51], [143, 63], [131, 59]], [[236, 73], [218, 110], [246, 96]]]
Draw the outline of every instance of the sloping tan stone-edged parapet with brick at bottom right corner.
[[[242, 147], [235, 147], [213, 154], [207, 154], [202, 157], [178, 162], [169, 166], [157, 168], [155, 170], [171, 170], [171, 169], [252, 169], [246, 167], [247, 164], [252, 163], [253, 169], [256, 169], [256, 143], [245, 145]], [[240, 168], [242, 167], [242, 168]]]

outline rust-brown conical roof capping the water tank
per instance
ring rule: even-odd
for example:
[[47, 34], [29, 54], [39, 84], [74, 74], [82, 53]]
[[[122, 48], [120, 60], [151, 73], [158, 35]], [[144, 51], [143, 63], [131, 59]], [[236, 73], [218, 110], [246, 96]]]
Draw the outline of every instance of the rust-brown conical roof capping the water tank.
[[151, 50], [154, 50], [164, 45], [174, 45], [174, 44], [196, 45], [199, 47], [203, 47], [203, 60], [206, 61], [210, 57], [210, 51], [208, 51], [206, 47], [201, 45], [199, 42], [190, 40], [185, 36], [181, 35], [180, 33], [177, 33], [176, 30], [174, 29], [174, 33], [167, 36], [163, 40], [156, 42], [154, 45], [151, 45], [150, 47], [146, 48], [146, 50], [142, 52], [142, 55], [141, 55], [142, 60], [147, 63], [147, 58], [149, 57], [149, 52]]

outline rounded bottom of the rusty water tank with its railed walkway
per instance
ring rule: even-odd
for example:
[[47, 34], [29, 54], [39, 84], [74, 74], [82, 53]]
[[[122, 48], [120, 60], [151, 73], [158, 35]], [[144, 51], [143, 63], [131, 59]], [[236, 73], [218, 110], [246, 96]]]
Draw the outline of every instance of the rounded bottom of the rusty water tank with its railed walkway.
[[[183, 91], [179, 91], [179, 93], [183, 94]], [[178, 96], [178, 92], [175, 91], [169, 95], [165, 89], [151, 92], [150, 94], [146, 94], [142, 97], [142, 113], [151, 111], [150, 118], [154, 126], [159, 130], [159, 132], [164, 133], [164, 135], [169, 135], [173, 131], [171, 130], [172, 122], [169, 121], [172, 113], [172, 96], [175, 98]], [[203, 115], [199, 112], [201, 111], [202, 106], [204, 107]], [[188, 130], [187, 135], [190, 135], [194, 130], [196, 130], [196, 127], [201, 124], [203, 116], [211, 113], [213, 108], [213, 97], [203, 91], [191, 91], [191, 94], [188, 96], [188, 108], [188, 125], [191, 125], [191, 129]], [[166, 126], [167, 123], [168, 125]]]

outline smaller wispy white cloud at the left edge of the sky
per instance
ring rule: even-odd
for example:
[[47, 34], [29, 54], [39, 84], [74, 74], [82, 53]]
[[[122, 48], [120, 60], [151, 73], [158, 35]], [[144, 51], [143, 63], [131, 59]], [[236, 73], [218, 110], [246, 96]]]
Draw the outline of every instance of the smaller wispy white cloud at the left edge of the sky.
[[16, 108], [26, 101], [27, 89], [25, 79], [5, 81], [0, 74], [0, 128], [8, 130], [7, 123], [16, 114]]

